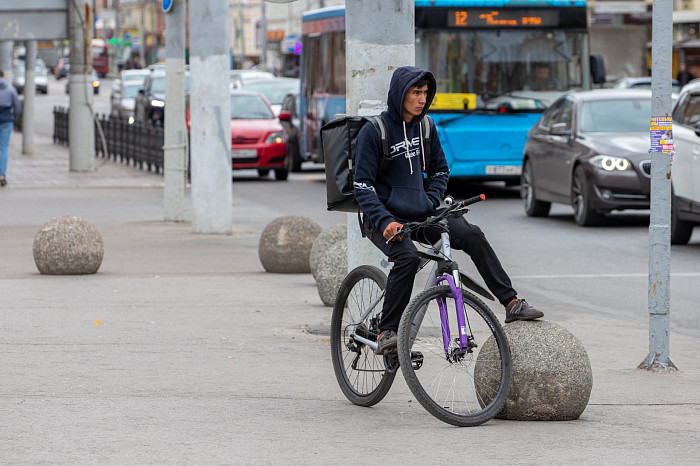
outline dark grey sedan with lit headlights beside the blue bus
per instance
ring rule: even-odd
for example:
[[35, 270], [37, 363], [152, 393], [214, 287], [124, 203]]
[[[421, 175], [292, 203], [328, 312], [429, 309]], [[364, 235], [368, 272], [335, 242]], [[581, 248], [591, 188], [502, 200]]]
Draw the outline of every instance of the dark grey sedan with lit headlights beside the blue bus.
[[648, 209], [651, 91], [567, 93], [530, 129], [521, 197], [531, 217], [571, 205], [582, 226], [614, 210]]

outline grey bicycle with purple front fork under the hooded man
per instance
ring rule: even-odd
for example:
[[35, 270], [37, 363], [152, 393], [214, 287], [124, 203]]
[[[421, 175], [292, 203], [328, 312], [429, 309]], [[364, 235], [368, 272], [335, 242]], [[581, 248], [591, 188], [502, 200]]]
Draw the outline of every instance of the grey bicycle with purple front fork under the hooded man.
[[[466, 214], [467, 206], [484, 199], [482, 194], [455, 203], [448, 197], [445, 209], [423, 222], [405, 223], [397, 233], [427, 248], [416, 252], [419, 271], [428, 263], [433, 267], [424, 290], [404, 310], [396, 351], [374, 354], [384, 272], [362, 265], [344, 279], [331, 318], [331, 359], [338, 384], [352, 403], [379, 403], [400, 367], [416, 400], [448, 424], [480, 425], [503, 408], [512, 383], [508, 340], [476, 295], [494, 298], [452, 260], [447, 226], [447, 218]], [[426, 227], [438, 228], [441, 239], [434, 244], [417, 239]], [[448, 309], [454, 309], [455, 319], [448, 317]]]

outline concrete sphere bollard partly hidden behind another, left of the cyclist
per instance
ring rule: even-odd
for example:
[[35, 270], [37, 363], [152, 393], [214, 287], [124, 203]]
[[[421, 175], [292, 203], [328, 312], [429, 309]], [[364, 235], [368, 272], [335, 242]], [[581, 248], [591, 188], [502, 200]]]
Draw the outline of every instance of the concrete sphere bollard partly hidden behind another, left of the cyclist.
[[321, 227], [308, 217], [285, 215], [267, 224], [258, 243], [258, 257], [266, 272], [309, 273], [311, 243]]

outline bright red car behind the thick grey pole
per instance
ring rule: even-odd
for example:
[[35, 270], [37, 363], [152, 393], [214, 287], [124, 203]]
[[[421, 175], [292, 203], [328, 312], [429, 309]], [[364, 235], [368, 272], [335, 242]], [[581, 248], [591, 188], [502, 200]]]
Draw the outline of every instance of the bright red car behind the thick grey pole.
[[[187, 111], [187, 130], [190, 111]], [[265, 96], [254, 91], [231, 91], [231, 167], [257, 169], [261, 177], [274, 170], [286, 180], [287, 134]]]

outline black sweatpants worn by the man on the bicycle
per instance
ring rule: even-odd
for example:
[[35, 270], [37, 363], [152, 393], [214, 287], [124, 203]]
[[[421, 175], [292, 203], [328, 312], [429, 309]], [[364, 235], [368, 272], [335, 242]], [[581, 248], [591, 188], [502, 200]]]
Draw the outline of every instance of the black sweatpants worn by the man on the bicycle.
[[[467, 222], [464, 217], [448, 219], [448, 225], [450, 247], [464, 251], [471, 257], [488, 289], [505, 306], [516, 297], [517, 293], [484, 233], [478, 226]], [[408, 238], [387, 244], [383, 232], [373, 230], [366, 216], [363, 226], [365, 235], [370, 241], [389, 258], [390, 262], [394, 263], [389, 271], [379, 328], [398, 330], [401, 314], [411, 300], [413, 281], [420, 264], [420, 258], [414, 254], [417, 247]], [[440, 231], [437, 228], [425, 228], [418, 231], [416, 235], [414, 238], [420, 238], [421, 241], [427, 239], [430, 243], [440, 239]]]

